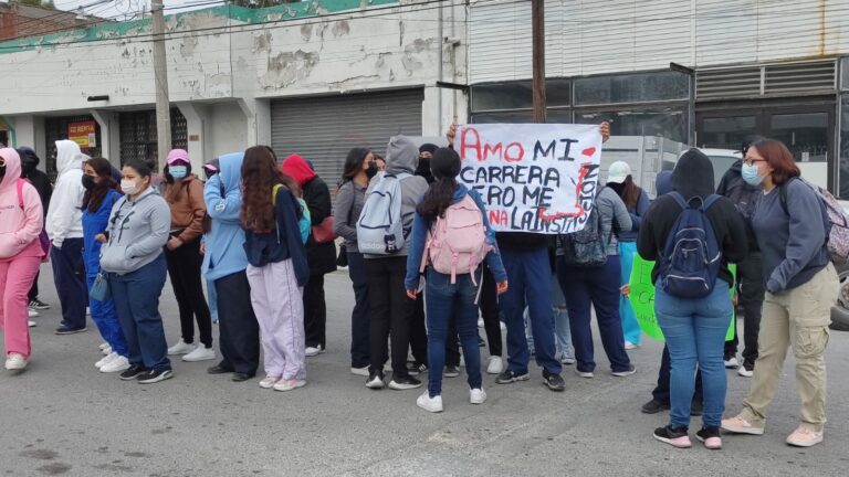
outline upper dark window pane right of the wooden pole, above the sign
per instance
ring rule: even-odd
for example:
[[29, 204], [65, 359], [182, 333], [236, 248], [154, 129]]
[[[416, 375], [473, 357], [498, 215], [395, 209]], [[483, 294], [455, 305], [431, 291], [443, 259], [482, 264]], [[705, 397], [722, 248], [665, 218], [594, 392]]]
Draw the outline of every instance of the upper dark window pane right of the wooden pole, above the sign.
[[689, 96], [690, 77], [678, 72], [575, 80], [575, 104], [578, 106], [686, 99]]

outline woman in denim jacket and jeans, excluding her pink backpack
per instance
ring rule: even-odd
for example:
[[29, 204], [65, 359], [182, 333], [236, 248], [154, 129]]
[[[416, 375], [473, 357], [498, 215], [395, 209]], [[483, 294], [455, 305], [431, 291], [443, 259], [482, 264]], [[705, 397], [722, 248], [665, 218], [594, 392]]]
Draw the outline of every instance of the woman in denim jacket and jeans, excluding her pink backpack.
[[[507, 290], [507, 273], [501, 263], [501, 255], [495, 245], [495, 234], [490, 229], [486, 219], [486, 209], [476, 192], [469, 191], [465, 186], [457, 182], [457, 176], [460, 173], [460, 157], [453, 149], [438, 149], [430, 158], [430, 169], [433, 172], [434, 182], [430, 184], [424, 198], [416, 209], [416, 218], [412, 223], [412, 239], [410, 254], [407, 256], [407, 276], [405, 279], [407, 296], [417, 299], [416, 292], [419, 287], [419, 271], [422, 254], [426, 253], [426, 242], [431, 241], [434, 234], [440, 233], [434, 230], [436, 227], [443, 226], [437, 222], [439, 220], [448, 221], [449, 206], [460, 204], [459, 206], [465, 208], [463, 201], [469, 202], [469, 206], [480, 210], [481, 223], [484, 227], [483, 240], [491, 247], [485, 256], [486, 266], [497, 283], [497, 293], [503, 294]], [[465, 233], [476, 232], [473, 227], [465, 230], [469, 231]], [[449, 235], [442, 236], [447, 237], [446, 240], [449, 237]], [[443, 246], [447, 245], [443, 244]], [[457, 331], [460, 333], [460, 342], [465, 357], [470, 388], [469, 402], [483, 404], [486, 401], [481, 378], [481, 352], [478, 347], [478, 306], [475, 305], [479, 288], [476, 284], [480, 284], [482, 279], [481, 266], [470, 273], [455, 275], [437, 272], [433, 266], [427, 269], [424, 293], [428, 308], [428, 330], [430, 332], [428, 337], [428, 368], [430, 371], [428, 391], [416, 401], [416, 404], [426, 411], [442, 411], [442, 370], [446, 365], [446, 338], [451, 321], [454, 321]]]

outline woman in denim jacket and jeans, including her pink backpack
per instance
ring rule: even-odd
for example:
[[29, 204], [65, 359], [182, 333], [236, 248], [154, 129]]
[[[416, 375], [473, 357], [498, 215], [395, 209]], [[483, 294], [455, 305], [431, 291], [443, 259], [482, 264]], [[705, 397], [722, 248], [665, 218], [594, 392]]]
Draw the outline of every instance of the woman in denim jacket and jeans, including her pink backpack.
[[430, 158], [434, 182], [416, 209], [405, 287], [417, 299], [420, 273], [427, 269], [428, 391], [416, 404], [429, 412], [442, 411], [442, 369], [446, 339], [453, 321], [460, 333], [469, 374], [469, 402], [483, 404], [486, 392], [481, 378], [478, 347], [478, 289], [482, 285], [482, 262], [497, 283], [497, 293], [507, 290], [507, 273], [495, 246], [481, 197], [457, 183], [460, 157], [452, 149], [438, 149]]

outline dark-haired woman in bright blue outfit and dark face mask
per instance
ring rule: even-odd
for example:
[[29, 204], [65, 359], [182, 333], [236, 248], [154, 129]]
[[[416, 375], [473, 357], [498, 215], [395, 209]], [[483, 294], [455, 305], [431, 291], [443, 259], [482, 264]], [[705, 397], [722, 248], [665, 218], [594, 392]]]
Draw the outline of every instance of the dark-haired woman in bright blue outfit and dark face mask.
[[[97, 274], [101, 273], [101, 246], [95, 237], [104, 233], [109, 224], [112, 208], [120, 199], [117, 182], [112, 178], [112, 165], [104, 158], [90, 159], [83, 166], [83, 262], [88, 290], [92, 289]], [[88, 297], [92, 320], [97, 326], [104, 341], [109, 346], [109, 354], [94, 365], [101, 372], [120, 372], [129, 368], [127, 360], [127, 340], [120, 329], [118, 311], [112, 297], [96, 300]]]

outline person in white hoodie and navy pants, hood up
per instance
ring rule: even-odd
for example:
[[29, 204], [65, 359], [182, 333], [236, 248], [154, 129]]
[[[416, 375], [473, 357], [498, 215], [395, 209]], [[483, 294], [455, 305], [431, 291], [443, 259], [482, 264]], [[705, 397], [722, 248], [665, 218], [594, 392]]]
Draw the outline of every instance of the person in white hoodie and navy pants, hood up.
[[62, 326], [56, 335], [85, 331], [85, 307], [88, 289], [77, 267], [83, 261], [83, 155], [72, 140], [56, 141], [59, 178], [53, 201], [48, 209], [44, 229], [53, 248], [50, 263], [62, 305]]

